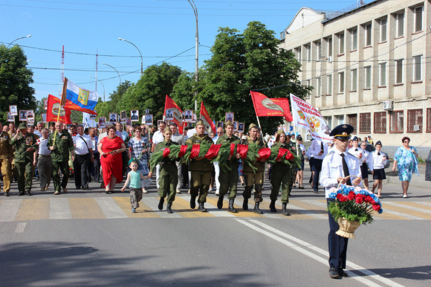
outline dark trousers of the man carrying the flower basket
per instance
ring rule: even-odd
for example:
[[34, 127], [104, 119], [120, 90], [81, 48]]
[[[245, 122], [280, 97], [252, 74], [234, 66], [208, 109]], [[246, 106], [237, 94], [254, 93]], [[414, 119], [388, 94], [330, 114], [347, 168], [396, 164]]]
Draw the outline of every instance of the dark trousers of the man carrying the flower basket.
[[[327, 203], [331, 203], [335, 199], [327, 198]], [[329, 267], [335, 269], [346, 269], [347, 257], [347, 242], [349, 238], [335, 234], [340, 229], [338, 222], [328, 212], [329, 217], [329, 234], [328, 234], [328, 250], [329, 250]]]

